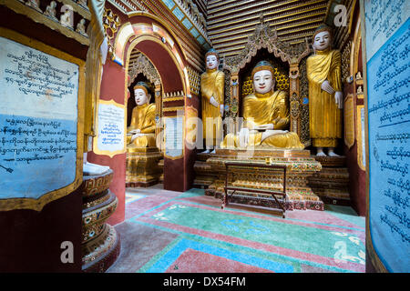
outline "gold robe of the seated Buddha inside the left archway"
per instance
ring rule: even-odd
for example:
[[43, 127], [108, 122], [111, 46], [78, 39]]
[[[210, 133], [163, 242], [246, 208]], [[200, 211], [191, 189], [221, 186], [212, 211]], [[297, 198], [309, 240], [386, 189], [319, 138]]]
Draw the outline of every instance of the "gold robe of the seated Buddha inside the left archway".
[[155, 104], [144, 104], [134, 107], [132, 110], [131, 124], [127, 133], [139, 129], [141, 135], [131, 142], [133, 135], [127, 135], [127, 145], [137, 147], [156, 146], [155, 143]]

